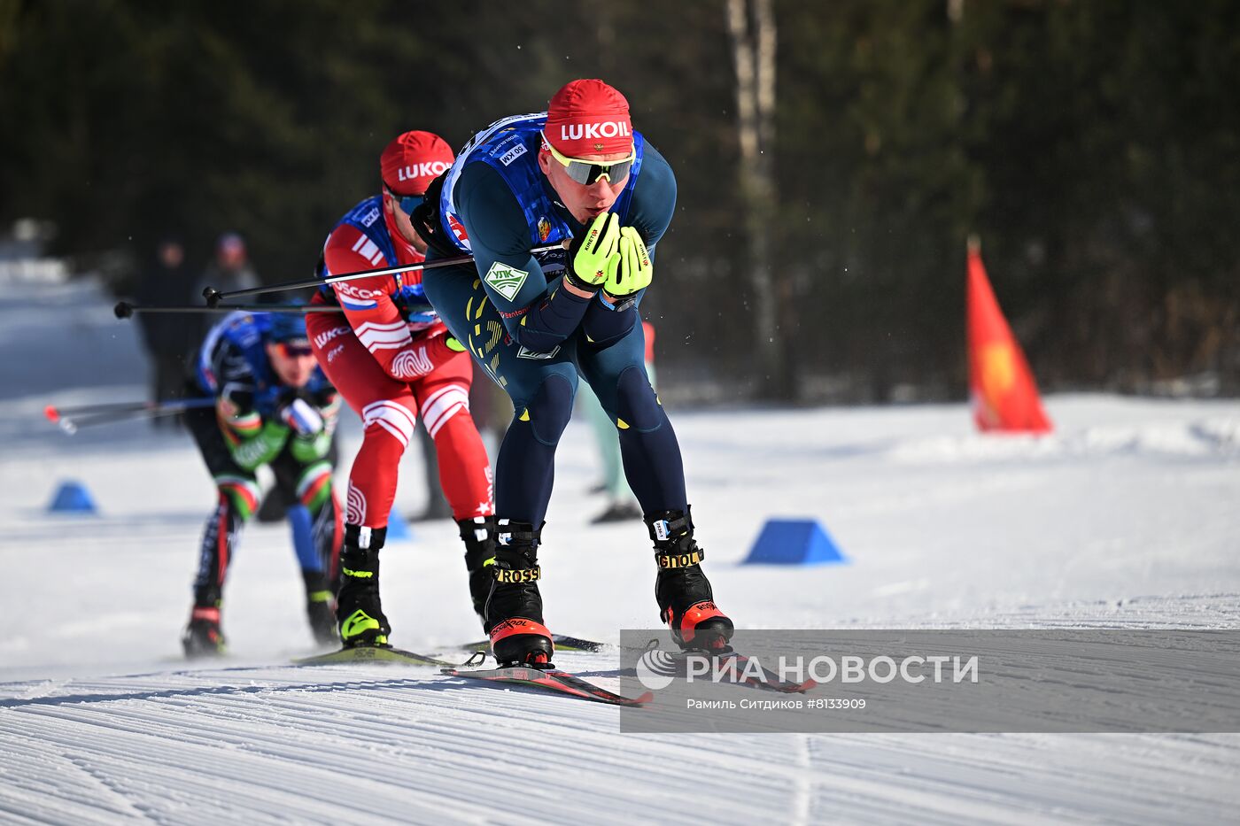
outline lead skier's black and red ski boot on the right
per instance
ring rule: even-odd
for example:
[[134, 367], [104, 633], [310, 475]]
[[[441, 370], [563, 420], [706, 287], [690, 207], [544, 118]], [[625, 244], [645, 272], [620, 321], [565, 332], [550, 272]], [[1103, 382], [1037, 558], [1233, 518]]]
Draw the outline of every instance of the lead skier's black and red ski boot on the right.
[[645, 517], [655, 543], [655, 602], [682, 649], [724, 651], [732, 639], [732, 620], [714, 604], [711, 580], [702, 573], [706, 552], [693, 541], [689, 512], [658, 511]]

